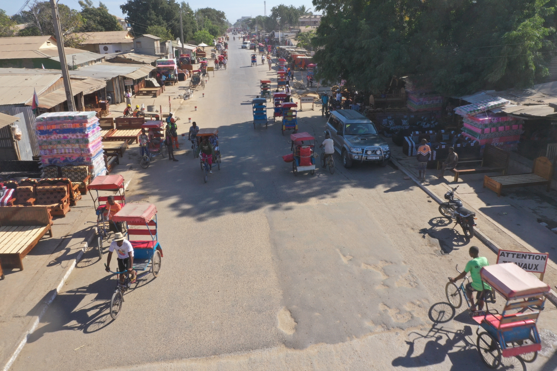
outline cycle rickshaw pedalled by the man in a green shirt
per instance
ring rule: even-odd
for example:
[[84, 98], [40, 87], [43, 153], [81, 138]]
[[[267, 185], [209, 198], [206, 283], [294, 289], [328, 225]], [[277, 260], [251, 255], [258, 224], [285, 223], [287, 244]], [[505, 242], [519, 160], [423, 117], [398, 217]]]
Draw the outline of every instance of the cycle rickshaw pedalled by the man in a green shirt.
[[[488, 309], [487, 303], [493, 301], [486, 300], [486, 310], [476, 311], [472, 317], [479, 325], [476, 345], [482, 362], [489, 368], [499, 367], [501, 357], [534, 362], [541, 349], [536, 322], [544, 308], [545, 295], [550, 291], [549, 285], [514, 263], [485, 266], [480, 275], [482, 285], [487, 283], [506, 299], [501, 313]], [[454, 285], [446, 294], [451, 305], [459, 308], [462, 296], [458, 287]]]

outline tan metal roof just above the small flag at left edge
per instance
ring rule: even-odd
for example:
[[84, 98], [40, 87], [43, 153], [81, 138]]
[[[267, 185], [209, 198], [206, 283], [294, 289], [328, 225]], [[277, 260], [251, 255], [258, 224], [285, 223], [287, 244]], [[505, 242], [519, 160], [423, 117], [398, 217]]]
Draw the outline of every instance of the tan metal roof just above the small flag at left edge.
[[51, 87], [62, 75], [3, 75], [0, 78], [0, 105], [25, 104]]

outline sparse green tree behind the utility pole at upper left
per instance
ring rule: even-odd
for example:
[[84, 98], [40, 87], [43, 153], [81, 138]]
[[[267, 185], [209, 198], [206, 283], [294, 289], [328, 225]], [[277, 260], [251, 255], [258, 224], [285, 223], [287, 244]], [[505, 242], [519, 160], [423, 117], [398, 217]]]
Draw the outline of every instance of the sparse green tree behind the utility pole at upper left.
[[[75, 9], [70, 9], [67, 5], [58, 4], [58, 13], [60, 14], [60, 28], [62, 29], [62, 36], [67, 36], [70, 33], [77, 32], [83, 26], [83, 18], [81, 14]], [[22, 12], [22, 17], [27, 21], [27, 28], [36, 27], [28, 30], [28, 32], [38, 32], [41, 36], [54, 35], [54, 26], [52, 25], [52, 9], [50, 2], [40, 2], [36, 0], [31, 4], [28, 11]], [[23, 32], [25, 34], [26, 32]], [[19, 32], [20, 36], [22, 32]], [[67, 42], [66, 42], [67, 41]], [[64, 44], [68, 46], [71, 43], [70, 39], [65, 39]]]

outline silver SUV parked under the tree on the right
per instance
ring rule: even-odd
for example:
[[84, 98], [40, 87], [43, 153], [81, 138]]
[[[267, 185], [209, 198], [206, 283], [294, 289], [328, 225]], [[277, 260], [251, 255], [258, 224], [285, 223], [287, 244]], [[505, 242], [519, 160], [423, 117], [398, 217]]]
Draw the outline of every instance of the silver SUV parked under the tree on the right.
[[331, 112], [325, 124], [343, 159], [344, 167], [351, 167], [354, 162], [375, 162], [387, 165], [390, 149], [387, 142], [379, 137], [377, 128], [367, 117], [354, 110], [336, 110]]

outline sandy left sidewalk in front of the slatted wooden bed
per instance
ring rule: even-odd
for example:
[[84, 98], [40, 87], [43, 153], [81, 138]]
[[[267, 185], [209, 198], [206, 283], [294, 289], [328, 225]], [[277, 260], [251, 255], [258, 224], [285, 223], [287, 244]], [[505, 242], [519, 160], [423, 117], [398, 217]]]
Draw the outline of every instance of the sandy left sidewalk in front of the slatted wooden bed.
[[[67, 275], [74, 269], [75, 259], [83, 264], [93, 264], [98, 258], [96, 251], [86, 249], [94, 236], [92, 200], [83, 195], [66, 217], [54, 217], [53, 237], [45, 235], [23, 259], [23, 270], [4, 269], [6, 278], [0, 281], [0, 369], [32, 333], [38, 319], [44, 313], [61, 288]], [[96, 257], [96, 259], [95, 259]], [[46, 305], [45, 305], [46, 304]]]

